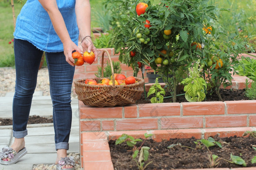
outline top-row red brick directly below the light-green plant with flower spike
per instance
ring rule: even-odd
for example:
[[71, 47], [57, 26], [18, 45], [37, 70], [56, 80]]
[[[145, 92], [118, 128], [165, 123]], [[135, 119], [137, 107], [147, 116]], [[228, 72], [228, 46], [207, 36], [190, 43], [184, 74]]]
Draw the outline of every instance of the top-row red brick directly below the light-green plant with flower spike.
[[183, 115], [224, 115], [225, 104], [221, 101], [181, 103]]

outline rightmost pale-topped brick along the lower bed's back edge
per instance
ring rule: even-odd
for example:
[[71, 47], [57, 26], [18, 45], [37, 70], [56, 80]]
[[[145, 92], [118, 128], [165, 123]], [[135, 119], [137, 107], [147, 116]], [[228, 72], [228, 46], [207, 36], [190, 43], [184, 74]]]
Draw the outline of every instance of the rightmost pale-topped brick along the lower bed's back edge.
[[211, 128], [211, 129], [204, 129], [204, 138], [208, 139], [210, 136], [213, 137], [218, 135], [220, 138], [227, 138], [230, 136], [242, 136], [246, 131], [252, 131], [252, 127], [234, 127], [234, 128]]

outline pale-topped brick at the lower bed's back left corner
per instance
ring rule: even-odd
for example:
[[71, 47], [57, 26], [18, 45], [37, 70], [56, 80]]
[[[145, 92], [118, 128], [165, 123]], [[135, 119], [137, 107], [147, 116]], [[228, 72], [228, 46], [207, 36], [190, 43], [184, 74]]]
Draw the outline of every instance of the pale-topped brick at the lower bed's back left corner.
[[108, 140], [106, 132], [83, 132], [82, 142], [92, 142], [92, 141], [106, 141]]

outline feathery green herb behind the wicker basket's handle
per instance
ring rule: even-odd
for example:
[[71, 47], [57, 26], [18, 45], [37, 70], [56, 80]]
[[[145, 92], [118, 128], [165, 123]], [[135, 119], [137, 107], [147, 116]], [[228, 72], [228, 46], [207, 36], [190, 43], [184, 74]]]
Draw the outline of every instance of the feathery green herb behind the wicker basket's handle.
[[[112, 65], [113, 65], [114, 73], [120, 74], [122, 72], [119, 61], [116, 61], [116, 62], [112, 61]], [[95, 76], [102, 77], [101, 76], [101, 67], [98, 67], [98, 72], [95, 73]], [[103, 70], [103, 77], [111, 77], [111, 76], [112, 76], [111, 66], [110, 66], [110, 63], [107, 61], [107, 64]]]

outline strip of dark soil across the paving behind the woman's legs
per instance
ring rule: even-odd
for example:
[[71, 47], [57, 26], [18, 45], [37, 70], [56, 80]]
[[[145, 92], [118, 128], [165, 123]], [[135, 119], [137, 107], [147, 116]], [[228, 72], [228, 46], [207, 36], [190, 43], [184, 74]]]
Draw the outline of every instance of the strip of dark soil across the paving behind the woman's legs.
[[[40, 117], [40, 116], [29, 116], [29, 121], [27, 124], [42, 124], [42, 123], [53, 123], [52, 118]], [[0, 126], [12, 125], [12, 119], [1, 119]]]

